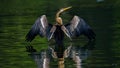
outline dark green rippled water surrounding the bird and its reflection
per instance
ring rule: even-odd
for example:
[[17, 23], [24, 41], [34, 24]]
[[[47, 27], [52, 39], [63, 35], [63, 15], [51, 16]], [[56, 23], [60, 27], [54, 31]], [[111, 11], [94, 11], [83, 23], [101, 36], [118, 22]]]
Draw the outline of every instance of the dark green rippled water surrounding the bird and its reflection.
[[[48, 50], [46, 38], [37, 36], [32, 43], [26, 43], [25, 35], [37, 17], [46, 14], [50, 23], [55, 23], [58, 9], [73, 6], [63, 13], [63, 22], [67, 23], [74, 15], [86, 20], [96, 33], [94, 48], [82, 47], [87, 44], [86, 37], [75, 39], [72, 43], [77, 52], [81, 52], [78, 68], [119, 68], [120, 67], [120, 24], [119, 1], [0, 1], [0, 68], [37, 68], [35, 61], [26, 52], [25, 46], [32, 45], [37, 53]], [[69, 40], [65, 40], [65, 48], [69, 47]], [[92, 44], [93, 45], [93, 44]], [[77, 49], [77, 47], [79, 49]], [[42, 50], [42, 51], [41, 51]], [[70, 53], [72, 54], [72, 53]], [[65, 58], [65, 68], [76, 68], [76, 63], [69, 57]], [[58, 68], [58, 60], [52, 59], [51, 68]]]

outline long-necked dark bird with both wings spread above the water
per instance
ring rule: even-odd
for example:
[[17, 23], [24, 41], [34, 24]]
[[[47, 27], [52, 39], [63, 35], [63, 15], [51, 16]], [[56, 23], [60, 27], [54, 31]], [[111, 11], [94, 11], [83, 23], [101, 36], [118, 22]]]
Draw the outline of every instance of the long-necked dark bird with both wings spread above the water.
[[48, 41], [53, 38], [57, 44], [63, 43], [64, 35], [70, 40], [72, 40], [73, 37], [78, 37], [80, 35], [85, 35], [89, 40], [95, 39], [96, 35], [92, 28], [83, 18], [77, 15], [74, 15], [69, 23], [63, 25], [60, 14], [70, 8], [72, 7], [61, 8], [56, 13], [55, 24], [48, 23], [46, 15], [38, 17], [27, 33], [26, 41], [31, 42], [37, 35], [40, 35], [40, 37], [46, 37]]

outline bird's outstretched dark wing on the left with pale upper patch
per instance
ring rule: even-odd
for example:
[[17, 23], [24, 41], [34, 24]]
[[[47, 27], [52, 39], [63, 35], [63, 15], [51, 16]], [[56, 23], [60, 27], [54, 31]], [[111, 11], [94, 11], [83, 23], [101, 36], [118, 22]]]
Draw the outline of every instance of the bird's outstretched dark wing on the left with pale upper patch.
[[50, 32], [51, 28], [52, 25], [48, 24], [46, 16], [42, 15], [35, 21], [30, 31], [27, 33], [26, 41], [31, 42], [37, 35], [40, 35], [41, 37], [46, 36], [50, 39], [52, 35]]

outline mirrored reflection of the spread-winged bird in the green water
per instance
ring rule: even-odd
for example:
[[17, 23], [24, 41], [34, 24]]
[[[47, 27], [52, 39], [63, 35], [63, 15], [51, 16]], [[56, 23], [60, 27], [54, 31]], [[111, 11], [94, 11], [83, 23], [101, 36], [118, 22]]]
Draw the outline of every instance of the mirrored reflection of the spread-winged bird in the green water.
[[67, 48], [64, 44], [56, 44], [54, 47], [37, 52], [33, 46], [26, 46], [29, 56], [37, 63], [38, 68], [50, 68], [50, 62], [58, 59], [58, 68], [65, 68], [65, 59], [70, 58], [75, 62], [76, 68], [82, 68], [82, 61], [87, 59], [90, 51], [94, 49], [95, 40], [89, 41], [83, 47], [71, 43]]

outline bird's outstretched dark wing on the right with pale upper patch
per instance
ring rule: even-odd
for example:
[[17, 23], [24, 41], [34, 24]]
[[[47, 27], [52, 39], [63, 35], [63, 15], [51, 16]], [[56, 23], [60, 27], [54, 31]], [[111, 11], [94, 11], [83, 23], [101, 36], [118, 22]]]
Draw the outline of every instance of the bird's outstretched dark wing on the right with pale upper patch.
[[77, 37], [83, 34], [90, 40], [95, 39], [95, 33], [91, 27], [78, 16], [74, 16], [71, 22], [65, 26], [71, 37]]

